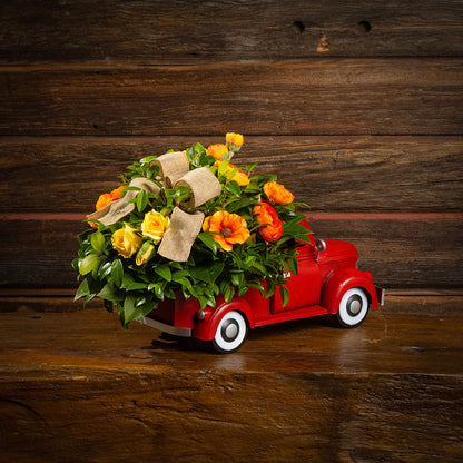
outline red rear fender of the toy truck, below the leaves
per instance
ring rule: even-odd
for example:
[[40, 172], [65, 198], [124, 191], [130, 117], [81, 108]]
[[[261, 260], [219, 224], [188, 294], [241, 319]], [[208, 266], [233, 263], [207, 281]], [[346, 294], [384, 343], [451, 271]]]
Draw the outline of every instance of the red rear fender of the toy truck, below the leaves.
[[254, 315], [248, 302], [242, 297], [234, 297], [229, 304], [223, 301], [221, 304], [217, 304], [216, 308], [206, 307], [205, 319], [195, 324], [194, 337], [203, 341], [214, 339], [221, 318], [232, 311], [240, 312], [245, 316], [248, 327], [254, 328]]

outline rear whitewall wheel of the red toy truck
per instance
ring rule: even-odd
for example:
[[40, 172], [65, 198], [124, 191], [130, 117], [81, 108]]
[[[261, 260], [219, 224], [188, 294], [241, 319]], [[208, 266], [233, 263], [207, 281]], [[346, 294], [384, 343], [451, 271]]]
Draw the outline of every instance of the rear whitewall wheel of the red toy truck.
[[228, 312], [217, 326], [213, 346], [219, 354], [229, 354], [238, 351], [246, 339], [247, 323], [237, 311]]

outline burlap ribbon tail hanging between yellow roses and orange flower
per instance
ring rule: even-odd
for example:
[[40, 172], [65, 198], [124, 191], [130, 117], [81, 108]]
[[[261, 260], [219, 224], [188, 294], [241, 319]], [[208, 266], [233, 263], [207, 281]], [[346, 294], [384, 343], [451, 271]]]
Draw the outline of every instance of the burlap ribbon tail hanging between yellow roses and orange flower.
[[203, 221], [203, 213], [187, 214], [176, 207], [170, 216], [170, 227], [160, 242], [158, 254], [170, 260], [187, 262]]

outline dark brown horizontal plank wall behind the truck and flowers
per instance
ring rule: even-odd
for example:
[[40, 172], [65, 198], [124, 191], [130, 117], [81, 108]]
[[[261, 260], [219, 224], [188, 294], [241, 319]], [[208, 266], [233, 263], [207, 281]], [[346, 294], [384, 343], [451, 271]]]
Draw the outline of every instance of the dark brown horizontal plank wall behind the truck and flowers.
[[462, 57], [461, 0], [3, 0], [2, 301], [69, 295], [117, 174], [226, 131], [390, 294], [461, 294]]

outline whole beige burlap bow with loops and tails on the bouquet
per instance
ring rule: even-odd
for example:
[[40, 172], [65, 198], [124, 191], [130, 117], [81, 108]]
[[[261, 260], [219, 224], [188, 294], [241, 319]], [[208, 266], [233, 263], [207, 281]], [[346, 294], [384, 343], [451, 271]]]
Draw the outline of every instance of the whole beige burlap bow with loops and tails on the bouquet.
[[[220, 183], [207, 168], [189, 170], [189, 161], [185, 152], [168, 152], [150, 162], [159, 167], [157, 180], [166, 188], [184, 185], [191, 189], [190, 199], [176, 206], [170, 216], [169, 229], [160, 242], [158, 253], [170, 260], [186, 262], [193, 243], [198, 236], [204, 221], [204, 214], [194, 209], [220, 194]], [[145, 189], [155, 195], [160, 194], [160, 187], [146, 178], [135, 178], [130, 187]], [[114, 225], [135, 209], [129, 203], [138, 195], [138, 190], [128, 190], [124, 198], [108, 204], [100, 210], [90, 214], [88, 220], [99, 220], [105, 226]], [[186, 209], [187, 211], [183, 210]]]

